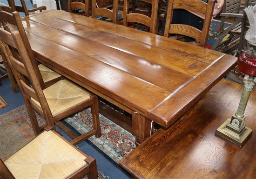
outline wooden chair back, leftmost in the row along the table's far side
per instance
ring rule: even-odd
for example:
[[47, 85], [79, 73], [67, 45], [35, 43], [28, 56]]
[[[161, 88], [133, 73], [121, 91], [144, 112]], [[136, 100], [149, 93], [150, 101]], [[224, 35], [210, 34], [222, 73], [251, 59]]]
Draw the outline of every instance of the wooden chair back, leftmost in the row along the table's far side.
[[90, 16], [89, 12], [90, 8], [90, 1], [85, 0], [84, 3], [80, 1], [73, 1], [73, 0], [68, 0], [68, 12], [73, 13], [74, 9], [81, 9], [84, 11], [85, 16]]

